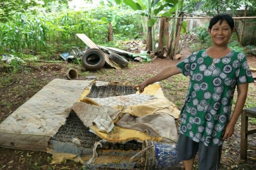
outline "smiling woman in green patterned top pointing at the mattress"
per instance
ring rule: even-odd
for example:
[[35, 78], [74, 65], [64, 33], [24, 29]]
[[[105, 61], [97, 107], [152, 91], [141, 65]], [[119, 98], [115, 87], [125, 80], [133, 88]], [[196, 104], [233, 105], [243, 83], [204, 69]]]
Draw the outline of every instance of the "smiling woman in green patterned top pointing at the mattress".
[[[192, 53], [176, 66], [136, 85], [143, 92], [148, 84], [182, 73], [190, 76], [190, 85], [180, 115], [178, 159], [192, 169], [199, 154], [199, 169], [217, 169], [222, 143], [234, 133], [245, 105], [248, 83], [253, 82], [245, 54], [232, 51], [228, 41], [234, 32], [234, 20], [227, 14], [211, 19], [208, 33], [213, 45]], [[231, 105], [237, 86], [237, 102]], [[231, 115], [231, 118], [230, 118]]]

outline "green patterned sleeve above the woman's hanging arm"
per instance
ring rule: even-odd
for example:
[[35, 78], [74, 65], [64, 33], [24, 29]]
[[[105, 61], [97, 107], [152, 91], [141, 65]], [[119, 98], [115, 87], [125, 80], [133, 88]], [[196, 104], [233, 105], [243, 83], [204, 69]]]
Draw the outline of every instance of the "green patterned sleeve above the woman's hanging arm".
[[240, 69], [237, 84], [253, 82], [251, 70], [247, 63], [246, 55], [243, 53], [239, 53], [237, 55], [237, 58], [240, 61]]

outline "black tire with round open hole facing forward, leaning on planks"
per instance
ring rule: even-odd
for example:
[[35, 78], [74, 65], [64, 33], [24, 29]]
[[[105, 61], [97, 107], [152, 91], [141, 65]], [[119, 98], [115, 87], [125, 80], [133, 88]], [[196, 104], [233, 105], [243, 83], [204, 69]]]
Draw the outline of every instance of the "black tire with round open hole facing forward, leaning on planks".
[[90, 48], [82, 57], [82, 65], [86, 70], [99, 70], [104, 64], [104, 53], [98, 48]]

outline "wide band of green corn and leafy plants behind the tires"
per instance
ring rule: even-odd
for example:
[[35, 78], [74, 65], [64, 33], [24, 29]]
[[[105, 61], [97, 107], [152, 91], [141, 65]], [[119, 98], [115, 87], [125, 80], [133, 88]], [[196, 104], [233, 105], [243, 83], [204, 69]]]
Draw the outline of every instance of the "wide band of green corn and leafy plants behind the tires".
[[[129, 10], [99, 6], [86, 11], [65, 10], [57, 13], [17, 13], [0, 23], [0, 53], [63, 52], [85, 44], [76, 33], [85, 33], [96, 44], [107, 42], [108, 23], [114, 37], [133, 39], [142, 30], [141, 18]], [[50, 58], [49, 58], [50, 59]]]

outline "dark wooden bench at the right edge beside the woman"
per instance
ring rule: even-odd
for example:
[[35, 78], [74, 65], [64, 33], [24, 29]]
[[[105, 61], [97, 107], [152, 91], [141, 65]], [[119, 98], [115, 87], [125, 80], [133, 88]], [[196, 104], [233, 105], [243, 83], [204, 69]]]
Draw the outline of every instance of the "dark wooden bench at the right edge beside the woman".
[[256, 118], [256, 107], [246, 108], [241, 114], [240, 157], [242, 160], [247, 160], [247, 136], [256, 133], [256, 129], [248, 130], [248, 117]]

